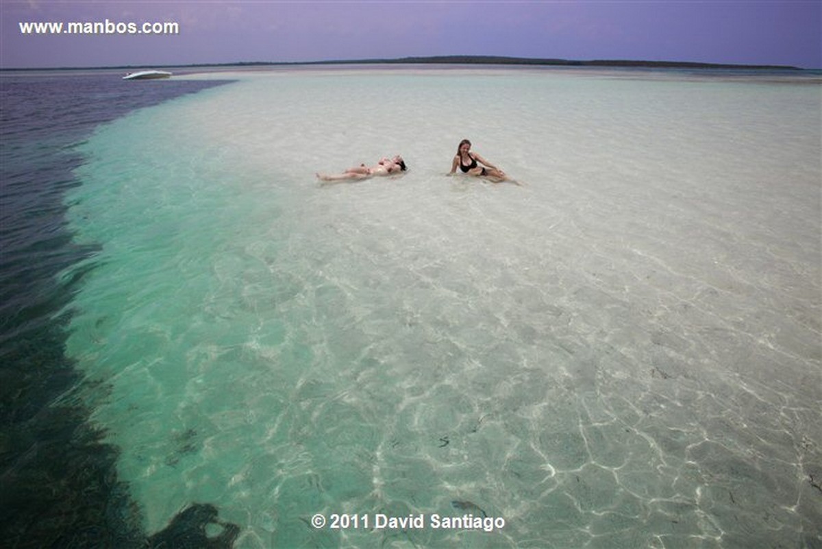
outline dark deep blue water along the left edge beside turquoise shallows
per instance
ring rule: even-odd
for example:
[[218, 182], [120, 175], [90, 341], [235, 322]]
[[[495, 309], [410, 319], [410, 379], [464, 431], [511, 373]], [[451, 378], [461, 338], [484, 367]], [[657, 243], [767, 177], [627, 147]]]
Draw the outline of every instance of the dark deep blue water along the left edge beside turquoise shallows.
[[[96, 127], [219, 82], [126, 82], [113, 72], [0, 74], [0, 540], [3, 547], [230, 547], [238, 528], [192, 502], [159, 533], [115, 469], [118, 450], [73, 395], [66, 307], [95, 256], [64, 219], [76, 150]], [[93, 268], [91, 261], [89, 268]], [[209, 527], [208, 536], [206, 527]], [[216, 533], [215, 533], [216, 531]]]

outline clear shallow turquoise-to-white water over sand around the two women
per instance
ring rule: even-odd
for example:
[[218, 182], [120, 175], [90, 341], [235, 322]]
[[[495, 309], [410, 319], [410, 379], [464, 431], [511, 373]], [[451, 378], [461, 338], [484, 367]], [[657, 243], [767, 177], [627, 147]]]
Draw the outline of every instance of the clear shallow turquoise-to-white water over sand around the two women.
[[[99, 128], [68, 197], [102, 251], [67, 353], [147, 530], [200, 502], [238, 547], [822, 543], [818, 84], [231, 76]], [[522, 186], [446, 178], [463, 137]], [[465, 512], [506, 524], [310, 524]]]

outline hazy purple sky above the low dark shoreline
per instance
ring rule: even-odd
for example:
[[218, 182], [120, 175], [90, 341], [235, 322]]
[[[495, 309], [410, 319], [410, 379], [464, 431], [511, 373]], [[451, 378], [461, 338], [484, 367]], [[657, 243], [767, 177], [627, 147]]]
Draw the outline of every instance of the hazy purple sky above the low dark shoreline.
[[[179, 35], [22, 35], [21, 21], [176, 21]], [[473, 54], [822, 68], [822, 0], [0, 2], [0, 67]]]

